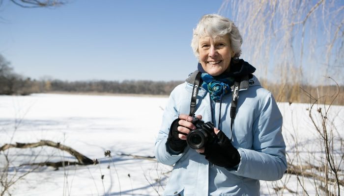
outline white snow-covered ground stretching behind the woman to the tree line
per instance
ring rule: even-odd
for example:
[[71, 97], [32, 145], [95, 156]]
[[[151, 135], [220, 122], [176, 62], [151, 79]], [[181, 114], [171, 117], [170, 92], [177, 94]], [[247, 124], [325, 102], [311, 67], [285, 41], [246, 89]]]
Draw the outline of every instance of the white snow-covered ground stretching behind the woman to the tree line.
[[[0, 146], [5, 143], [52, 140], [100, 162], [98, 165], [68, 166], [58, 171], [51, 167], [40, 167], [13, 185], [11, 193], [13, 196], [161, 194], [171, 166], [120, 154], [154, 156], [154, 142], [167, 100], [167, 97], [145, 96], [0, 96]], [[310, 105], [279, 103], [279, 107], [284, 117], [283, 134], [287, 153], [292, 156], [289, 160], [296, 163], [297, 157], [305, 158], [309, 152], [314, 154], [313, 158], [320, 158], [317, 153], [323, 149], [319, 146], [319, 136], [308, 116]], [[318, 107], [324, 109], [323, 105]], [[332, 106], [329, 114], [328, 118], [334, 120], [332, 127], [336, 127], [335, 131], [343, 137], [344, 107]], [[296, 156], [296, 142], [300, 156]], [[343, 152], [343, 144], [336, 144], [335, 148]], [[111, 150], [112, 157], [104, 156], [106, 150]], [[12, 163], [9, 177], [18, 177], [31, 168], [26, 166], [16, 171], [14, 166], [21, 164], [47, 160], [74, 161], [72, 155], [52, 147], [11, 148], [5, 152], [9, 152]], [[0, 167], [3, 163], [4, 157], [0, 156]], [[290, 175], [273, 183], [281, 186], [284, 181], [290, 185], [289, 188], [297, 189], [297, 180]], [[310, 190], [308, 194], [315, 194], [312, 182], [305, 184]], [[300, 188], [297, 190], [300, 191]], [[261, 181], [261, 194], [273, 193], [272, 183]], [[284, 195], [289, 194], [285, 191]]]

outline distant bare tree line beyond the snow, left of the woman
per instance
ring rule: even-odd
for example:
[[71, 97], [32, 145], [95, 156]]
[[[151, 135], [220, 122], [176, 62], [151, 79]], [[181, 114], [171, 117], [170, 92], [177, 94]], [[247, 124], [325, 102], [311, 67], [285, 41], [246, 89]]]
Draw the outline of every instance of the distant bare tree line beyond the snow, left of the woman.
[[170, 95], [183, 81], [62, 81], [59, 79], [31, 79], [15, 73], [0, 54], [0, 95], [29, 95], [47, 92], [97, 92], [114, 94]]

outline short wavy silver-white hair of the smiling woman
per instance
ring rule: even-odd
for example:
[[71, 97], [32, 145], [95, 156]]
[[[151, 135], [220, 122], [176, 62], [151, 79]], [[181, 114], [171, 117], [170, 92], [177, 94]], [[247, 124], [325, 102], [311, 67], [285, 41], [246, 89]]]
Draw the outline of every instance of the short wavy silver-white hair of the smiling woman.
[[199, 39], [200, 37], [211, 36], [224, 36], [229, 34], [230, 47], [235, 52], [234, 58], [238, 58], [241, 54], [242, 37], [239, 29], [234, 25], [233, 21], [218, 14], [204, 15], [196, 28], [194, 28], [191, 47], [195, 56], [199, 59]]

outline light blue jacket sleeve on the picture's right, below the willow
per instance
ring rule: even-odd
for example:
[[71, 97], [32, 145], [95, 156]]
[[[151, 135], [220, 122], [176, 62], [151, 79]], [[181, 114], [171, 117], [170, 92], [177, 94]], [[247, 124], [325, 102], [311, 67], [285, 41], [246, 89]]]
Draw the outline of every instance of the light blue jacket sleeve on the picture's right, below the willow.
[[253, 124], [252, 149], [238, 148], [241, 160], [230, 172], [258, 180], [279, 180], [287, 170], [282, 115], [269, 92]]

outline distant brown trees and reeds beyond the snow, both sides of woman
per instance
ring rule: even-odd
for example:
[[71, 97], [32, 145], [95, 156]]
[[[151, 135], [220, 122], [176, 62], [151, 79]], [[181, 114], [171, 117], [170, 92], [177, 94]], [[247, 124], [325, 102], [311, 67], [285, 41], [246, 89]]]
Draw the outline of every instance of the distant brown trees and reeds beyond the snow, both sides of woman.
[[[0, 95], [30, 95], [32, 93], [113, 93], [139, 95], [170, 95], [174, 87], [184, 81], [63, 81], [59, 79], [31, 79], [13, 71], [10, 63], [0, 54]], [[262, 86], [272, 92], [278, 102], [308, 103], [312, 95], [335, 95], [338, 98], [333, 104], [344, 105], [344, 86], [311, 86], [300, 83], [271, 83], [260, 80]], [[318, 97], [317, 97], [318, 98]], [[322, 99], [322, 98], [318, 98]], [[325, 101], [325, 100], [321, 100]], [[326, 102], [326, 101], [325, 101]]]

